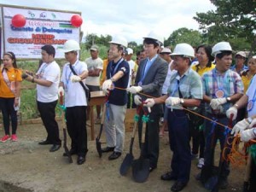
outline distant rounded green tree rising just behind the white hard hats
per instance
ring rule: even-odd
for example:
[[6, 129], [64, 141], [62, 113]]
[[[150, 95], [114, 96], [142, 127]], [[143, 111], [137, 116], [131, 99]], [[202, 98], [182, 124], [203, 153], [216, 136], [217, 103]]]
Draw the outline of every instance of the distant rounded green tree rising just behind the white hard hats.
[[191, 44], [192, 46], [198, 46], [203, 43], [203, 38], [200, 32], [183, 27], [172, 32], [170, 37], [165, 40], [166, 46], [171, 45], [174, 47], [176, 44], [180, 43], [187, 43]]

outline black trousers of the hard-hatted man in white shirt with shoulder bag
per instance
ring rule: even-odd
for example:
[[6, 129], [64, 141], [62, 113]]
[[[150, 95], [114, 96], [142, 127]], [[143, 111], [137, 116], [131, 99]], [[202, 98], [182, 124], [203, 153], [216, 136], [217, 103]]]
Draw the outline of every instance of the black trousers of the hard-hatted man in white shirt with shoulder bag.
[[86, 107], [76, 106], [67, 108], [67, 132], [71, 138], [71, 148], [77, 151], [79, 156], [87, 154], [87, 131], [86, 131]]

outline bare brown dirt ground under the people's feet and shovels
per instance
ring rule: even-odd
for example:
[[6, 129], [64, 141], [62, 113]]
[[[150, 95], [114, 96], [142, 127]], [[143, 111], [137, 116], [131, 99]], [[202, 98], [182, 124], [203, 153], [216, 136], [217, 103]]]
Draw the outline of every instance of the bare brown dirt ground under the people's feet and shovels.
[[[61, 125], [61, 124], [60, 124]], [[60, 126], [61, 127], [61, 126]], [[96, 125], [98, 131], [99, 125]], [[1, 136], [3, 127], [0, 127]], [[90, 128], [88, 128], [89, 152], [86, 162], [82, 166], [68, 164], [63, 157], [64, 149], [49, 153], [48, 146], [38, 145], [46, 134], [43, 125], [20, 125], [17, 131], [19, 141], [16, 143], [0, 143], [0, 192], [2, 191], [36, 191], [36, 192], [165, 192], [171, 191], [173, 182], [160, 180], [160, 175], [169, 169], [172, 157], [167, 144], [167, 134], [160, 138], [160, 159], [158, 168], [151, 172], [148, 181], [135, 183], [131, 177], [131, 170], [127, 176], [119, 175], [119, 166], [125, 154], [128, 153], [131, 132], [125, 135], [125, 152], [118, 160], [108, 160], [109, 154], [98, 157], [95, 141], [90, 141]], [[61, 137], [63, 137], [60, 130]], [[104, 134], [102, 134], [104, 135]], [[105, 138], [102, 137], [102, 141]], [[69, 143], [69, 141], [68, 141]], [[134, 145], [135, 158], [138, 158], [137, 139]], [[183, 192], [204, 192], [201, 183], [195, 180], [199, 172], [196, 167], [197, 160], [192, 161], [192, 170], [188, 186]], [[231, 167], [229, 177], [230, 187], [223, 192], [241, 191], [244, 166]]]

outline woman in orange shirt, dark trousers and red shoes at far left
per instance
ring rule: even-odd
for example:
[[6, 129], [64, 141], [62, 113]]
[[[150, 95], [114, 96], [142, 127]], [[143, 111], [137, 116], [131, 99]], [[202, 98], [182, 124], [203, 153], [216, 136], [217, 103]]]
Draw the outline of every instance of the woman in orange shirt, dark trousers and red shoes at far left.
[[[0, 73], [0, 106], [3, 113], [3, 127], [5, 136], [0, 142], [12, 140], [16, 142], [16, 130], [18, 125], [17, 110], [20, 105], [21, 71], [17, 68], [15, 54], [7, 52], [3, 54], [3, 67]], [[10, 137], [9, 118], [11, 119], [12, 135]]]

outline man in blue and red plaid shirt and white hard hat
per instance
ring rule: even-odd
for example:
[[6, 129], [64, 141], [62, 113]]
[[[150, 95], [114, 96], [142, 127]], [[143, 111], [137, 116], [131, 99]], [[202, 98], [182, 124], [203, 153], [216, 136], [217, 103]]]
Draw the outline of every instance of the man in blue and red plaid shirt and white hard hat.
[[[215, 56], [216, 67], [202, 76], [203, 100], [206, 102], [207, 118], [218, 121], [222, 125], [228, 125], [229, 119], [225, 112], [234, 102], [239, 100], [243, 94], [243, 84], [238, 73], [230, 70], [232, 62], [232, 49], [228, 42], [220, 42], [212, 48], [212, 55]], [[205, 137], [205, 166], [201, 171], [201, 181], [206, 183], [206, 175], [212, 172], [214, 165], [214, 148], [219, 139], [221, 155], [227, 136], [227, 128], [206, 121]], [[227, 177], [230, 173], [229, 164], [225, 161], [220, 174], [220, 188], [228, 186]]]

